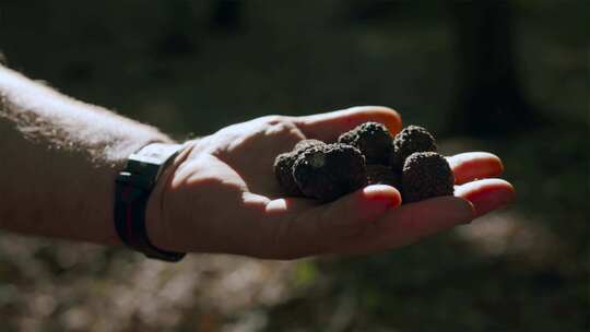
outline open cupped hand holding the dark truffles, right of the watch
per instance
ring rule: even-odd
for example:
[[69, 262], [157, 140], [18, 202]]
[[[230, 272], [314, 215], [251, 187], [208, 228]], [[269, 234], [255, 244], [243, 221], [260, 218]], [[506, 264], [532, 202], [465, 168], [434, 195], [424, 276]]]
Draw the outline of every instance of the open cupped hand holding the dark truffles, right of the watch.
[[502, 162], [482, 152], [448, 158], [456, 197], [400, 206], [398, 190], [385, 185], [324, 204], [281, 193], [272, 168], [278, 154], [303, 139], [334, 141], [365, 121], [381, 122], [392, 134], [401, 129], [392, 109], [354, 107], [262, 117], [188, 142], [150, 199], [150, 238], [168, 250], [272, 259], [367, 253], [469, 223], [512, 200], [510, 183], [489, 179], [503, 171]]

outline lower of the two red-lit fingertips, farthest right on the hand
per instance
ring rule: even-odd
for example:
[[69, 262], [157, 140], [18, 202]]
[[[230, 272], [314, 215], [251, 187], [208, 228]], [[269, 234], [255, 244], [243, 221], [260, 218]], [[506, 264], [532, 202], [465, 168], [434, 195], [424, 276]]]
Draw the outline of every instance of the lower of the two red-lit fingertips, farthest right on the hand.
[[515, 188], [502, 179], [484, 179], [458, 186], [455, 195], [469, 200], [475, 209], [475, 217], [511, 203]]

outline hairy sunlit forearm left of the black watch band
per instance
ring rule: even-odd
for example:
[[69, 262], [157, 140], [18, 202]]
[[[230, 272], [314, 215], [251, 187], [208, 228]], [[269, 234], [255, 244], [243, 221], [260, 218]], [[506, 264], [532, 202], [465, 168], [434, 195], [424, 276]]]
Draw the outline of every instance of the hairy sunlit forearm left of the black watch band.
[[118, 242], [113, 194], [126, 157], [169, 138], [0, 66], [0, 228]]

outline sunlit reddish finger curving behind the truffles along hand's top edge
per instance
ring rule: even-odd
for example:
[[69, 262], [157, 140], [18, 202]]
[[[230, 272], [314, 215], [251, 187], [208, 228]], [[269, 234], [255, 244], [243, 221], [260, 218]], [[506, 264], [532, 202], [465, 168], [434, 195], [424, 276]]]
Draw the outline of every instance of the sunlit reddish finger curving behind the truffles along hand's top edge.
[[384, 123], [392, 135], [398, 133], [402, 126], [400, 115], [382, 106], [351, 107], [295, 119], [295, 123], [306, 137], [326, 142], [335, 141], [341, 133], [367, 121]]

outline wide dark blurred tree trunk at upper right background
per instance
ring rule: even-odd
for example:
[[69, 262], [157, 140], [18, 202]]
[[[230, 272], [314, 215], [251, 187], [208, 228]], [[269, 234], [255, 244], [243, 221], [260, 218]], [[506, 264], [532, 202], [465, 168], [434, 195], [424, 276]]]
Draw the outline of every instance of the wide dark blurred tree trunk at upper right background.
[[507, 1], [457, 2], [459, 92], [448, 128], [473, 135], [509, 134], [538, 121], [518, 81], [514, 10]]

